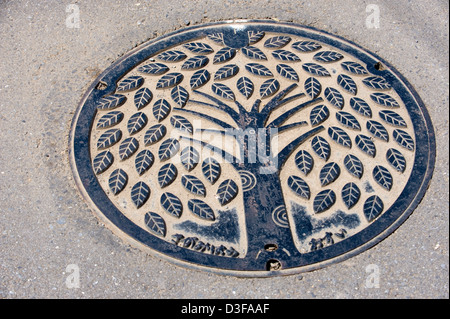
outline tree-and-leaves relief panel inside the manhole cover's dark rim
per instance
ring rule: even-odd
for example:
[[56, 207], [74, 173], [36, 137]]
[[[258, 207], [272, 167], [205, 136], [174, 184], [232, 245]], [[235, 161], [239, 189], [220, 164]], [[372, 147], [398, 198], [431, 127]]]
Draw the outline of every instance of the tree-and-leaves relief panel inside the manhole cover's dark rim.
[[127, 218], [180, 248], [258, 258], [268, 243], [289, 256], [334, 245], [383, 215], [414, 163], [408, 111], [370, 70], [276, 32], [175, 44], [98, 101], [94, 172]]

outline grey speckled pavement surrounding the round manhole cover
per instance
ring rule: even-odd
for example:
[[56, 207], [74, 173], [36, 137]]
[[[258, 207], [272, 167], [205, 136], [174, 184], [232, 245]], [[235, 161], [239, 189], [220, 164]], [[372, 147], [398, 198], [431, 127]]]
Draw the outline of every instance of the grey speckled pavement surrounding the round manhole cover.
[[[66, 25], [69, 4], [79, 28]], [[380, 8], [379, 28], [366, 26], [368, 4]], [[448, 14], [447, 0], [0, 0], [0, 298], [448, 298]], [[422, 97], [435, 173], [411, 217], [374, 248], [301, 275], [217, 276], [125, 245], [81, 199], [68, 133], [91, 82], [147, 39], [234, 18], [343, 36], [391, 62]], [[70, 264], [78, 288], [66, 285]], [[365, 286], [368, 265], [379, 267], [379, 288]]]

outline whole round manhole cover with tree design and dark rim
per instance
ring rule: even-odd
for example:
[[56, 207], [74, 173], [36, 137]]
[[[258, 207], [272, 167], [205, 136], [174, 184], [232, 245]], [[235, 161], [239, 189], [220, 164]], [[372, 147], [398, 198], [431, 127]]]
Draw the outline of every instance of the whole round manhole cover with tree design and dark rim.
[[86, 93], [70, 148], [116, 234], [238, 276], [312, 270], [378, 243], [417, 206], [435, 155], [423, 103], [388, 63], [267, 21], [136, 48]]

